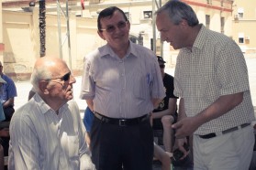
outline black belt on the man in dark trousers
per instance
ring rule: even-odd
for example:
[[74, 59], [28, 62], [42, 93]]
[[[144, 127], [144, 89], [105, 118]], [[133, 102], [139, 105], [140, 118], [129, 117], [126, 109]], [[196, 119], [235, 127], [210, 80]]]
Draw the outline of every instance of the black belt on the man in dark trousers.
[[104, 115], [101, 115], [98, 112], [95, 112], [95, 117], [99, 119], [101, 122], [107, 122], [110, 124], [118, 124], [119, 126], [128, 126], [128, 125], [135, 125], [139, 124], [139, 122], [144, 122], [146, 120], [149, 120], [150, 115], [145, 114], [138, 118], [132, 118], [132, 119], [117, 119], [117, 118], [109, 118]]

